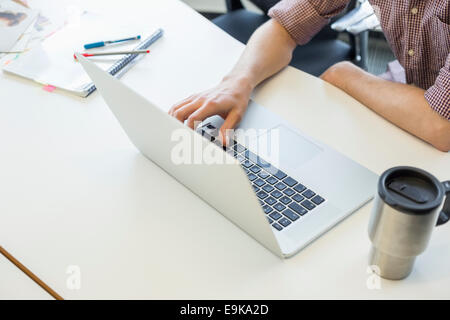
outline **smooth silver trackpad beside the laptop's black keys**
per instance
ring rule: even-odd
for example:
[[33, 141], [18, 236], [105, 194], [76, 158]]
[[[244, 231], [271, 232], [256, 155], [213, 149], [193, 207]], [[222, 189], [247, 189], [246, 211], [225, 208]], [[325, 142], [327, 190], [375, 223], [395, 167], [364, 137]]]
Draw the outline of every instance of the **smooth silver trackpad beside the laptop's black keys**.
[[[261, 152], [263, 150], [267, 152]], [[258, 154], [275, 166], [278, 163], [281, 168], [296, 169], [320, 152], [322, 149], [318, 145], [284, 125], [276, 126], [258, 136]]]

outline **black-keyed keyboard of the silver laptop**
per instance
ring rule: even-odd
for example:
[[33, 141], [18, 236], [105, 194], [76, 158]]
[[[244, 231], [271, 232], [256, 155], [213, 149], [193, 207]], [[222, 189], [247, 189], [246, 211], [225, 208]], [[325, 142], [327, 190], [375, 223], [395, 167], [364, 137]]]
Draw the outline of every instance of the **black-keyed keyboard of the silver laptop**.
[[[217, 128], [211, 124], [201, 129], [204, 137], [222, 147], [215, 138], [217, 132]], [[314, 208], [325, 201], [313, 190], [272, 166], [235, 140], [228, 147], [223, 146], [223, 149], [241, 163], [266, 214], [267, 221], [276, 230], [282, 231], [301, 221], [302, 216], [313, 212]]]

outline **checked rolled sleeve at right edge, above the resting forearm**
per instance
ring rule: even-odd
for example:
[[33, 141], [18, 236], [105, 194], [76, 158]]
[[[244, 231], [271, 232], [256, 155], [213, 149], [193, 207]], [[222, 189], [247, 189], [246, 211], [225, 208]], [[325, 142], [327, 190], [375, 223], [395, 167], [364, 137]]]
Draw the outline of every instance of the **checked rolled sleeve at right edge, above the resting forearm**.
[[425, 92], [425, 99], [434, 111], [450, 120], [450, 54], [436, 82]]

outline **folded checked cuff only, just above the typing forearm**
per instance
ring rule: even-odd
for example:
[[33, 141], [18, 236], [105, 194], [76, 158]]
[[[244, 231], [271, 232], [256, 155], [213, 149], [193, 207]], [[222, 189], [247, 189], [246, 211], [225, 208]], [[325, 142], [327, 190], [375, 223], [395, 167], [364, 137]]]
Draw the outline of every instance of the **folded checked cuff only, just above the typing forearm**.
[[269, 10], [269, 16], [277, 20], [300, 45], [306, 44], [329, 22], [308, 0], [280, 1]]

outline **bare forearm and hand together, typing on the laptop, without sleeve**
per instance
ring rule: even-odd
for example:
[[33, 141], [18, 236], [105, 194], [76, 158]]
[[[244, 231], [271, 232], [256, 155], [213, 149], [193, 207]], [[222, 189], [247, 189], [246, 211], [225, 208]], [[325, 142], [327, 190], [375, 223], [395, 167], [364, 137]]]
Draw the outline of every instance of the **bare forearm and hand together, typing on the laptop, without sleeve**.
[[179, 121], [187, 120], [191, 128], [195, 122], [220, 115], [225, 119], [220, 133], [226, 143], [226, 130], [242, 119], [253, 89], [287, 66], [295, 47], [288, 32], [274, 19], [269, 20], [255, 31], [236, 66], [221, 83], [175, 104], [169, 114]]

